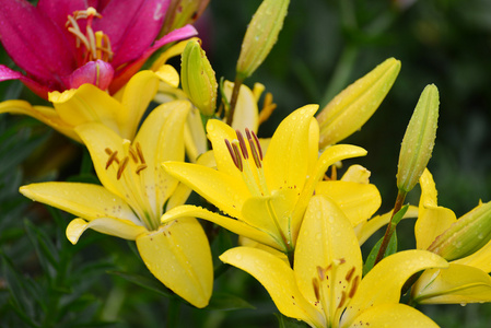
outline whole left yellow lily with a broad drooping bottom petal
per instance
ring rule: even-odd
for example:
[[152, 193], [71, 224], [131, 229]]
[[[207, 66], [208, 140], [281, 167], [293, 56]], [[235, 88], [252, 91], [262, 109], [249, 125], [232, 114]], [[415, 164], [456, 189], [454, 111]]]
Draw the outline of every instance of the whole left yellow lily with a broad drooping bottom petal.
[[149, 270], [197, 307], [208, 305], [213, 270], [208, 238], [194, 218], [160, 223], [165, 209], [182, 204], [190, 190], [167, 175], [163, 161], [184, 160], [183, 127], [190, 104], [171, 102], [155, 108], [135, 141], [98, 122], [75, 128], [91, 153], [103, 186], [44, 183], [21, 187], [35, 200], [79, 218], [67, 227], [77, 244], [87, 229], [136, 241]]

